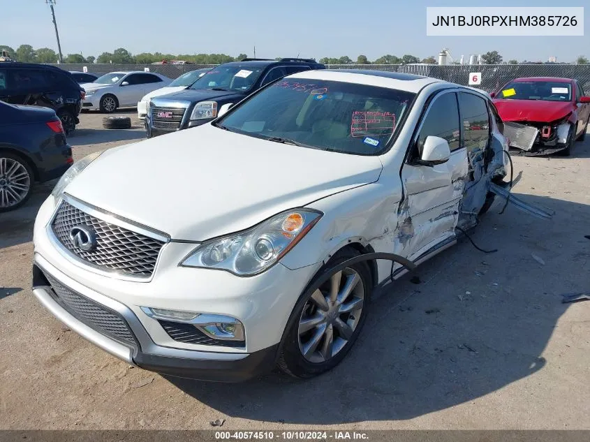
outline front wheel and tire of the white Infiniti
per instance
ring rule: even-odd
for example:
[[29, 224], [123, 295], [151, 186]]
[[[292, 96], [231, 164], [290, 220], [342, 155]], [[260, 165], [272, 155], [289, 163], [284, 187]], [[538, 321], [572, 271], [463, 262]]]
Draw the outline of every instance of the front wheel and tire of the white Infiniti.
[[354, 249], [339, 251], [295, 304], [277, 362], [285, 373], [312, 378], [336, 367], [351, 351], [367, 317], [371, 272], [365, 262], [338, 272], [334, 268], [359, 254]]

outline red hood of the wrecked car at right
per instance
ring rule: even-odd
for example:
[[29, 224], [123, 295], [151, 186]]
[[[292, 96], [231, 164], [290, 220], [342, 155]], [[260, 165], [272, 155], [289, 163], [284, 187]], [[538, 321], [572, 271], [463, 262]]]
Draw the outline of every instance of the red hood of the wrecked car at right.
[[569, 101], [494, 100], [504, 121], [539, 121], [550, 123], [566, 117], [572, 111]]

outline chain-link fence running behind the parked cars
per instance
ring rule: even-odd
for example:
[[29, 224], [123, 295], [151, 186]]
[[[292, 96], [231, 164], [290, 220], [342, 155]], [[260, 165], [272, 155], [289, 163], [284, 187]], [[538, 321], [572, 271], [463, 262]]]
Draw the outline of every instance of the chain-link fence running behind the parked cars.
[[[59, 64], [66, 71], [82, 71], [87, 66], [91, 73], [115, 71], [143, 71], [161, 73], [168, 78], [178, 78], [185, 72], [200, 68], [212, 68], [214, 64]], [[329, 64], [329, 69], [371, 69], [425, 75], [457, 84], [469, 84], [469, 73], [480, 72], [481, 84], [477, 87], [492, 92], [509, 80], [521, 77], [561, 77], [580, 81], [586, 94], [590, 94], [590, 64], [485, 64], [474, 66], [438, 66], [436, 64]]]

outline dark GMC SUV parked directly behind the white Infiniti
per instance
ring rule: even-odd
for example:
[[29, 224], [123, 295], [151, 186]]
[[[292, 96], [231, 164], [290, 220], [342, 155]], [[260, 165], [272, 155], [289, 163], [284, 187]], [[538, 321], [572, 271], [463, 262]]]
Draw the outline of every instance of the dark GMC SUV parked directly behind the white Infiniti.
[[147, 137], [200, 126], [217, 117], [223, 105], [233, 105], [285, 75], [325, 69], [313, 59], [243, 59], [221, 64], [184, 91], [152, 98], [145, 118]]

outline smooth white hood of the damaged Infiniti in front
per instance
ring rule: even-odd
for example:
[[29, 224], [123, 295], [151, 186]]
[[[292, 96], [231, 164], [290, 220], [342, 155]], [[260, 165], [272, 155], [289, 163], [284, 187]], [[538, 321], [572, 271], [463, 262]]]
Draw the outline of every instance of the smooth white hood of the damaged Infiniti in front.
[[375, 182], [376, 156], [283, 145], [211, 124], [104, 152], [66, 193], [167, 233], [202, 241]]

